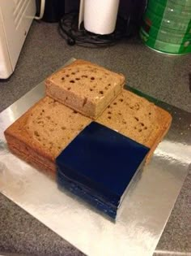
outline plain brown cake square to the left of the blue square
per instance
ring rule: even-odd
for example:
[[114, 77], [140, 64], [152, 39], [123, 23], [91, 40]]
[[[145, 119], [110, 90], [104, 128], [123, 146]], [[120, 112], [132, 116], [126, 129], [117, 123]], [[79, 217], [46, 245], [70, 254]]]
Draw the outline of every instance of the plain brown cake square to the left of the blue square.
[[5, 131], [10, 150], [35, 167], [55, 171], [55, 158], [91, 122], [45, 97]]

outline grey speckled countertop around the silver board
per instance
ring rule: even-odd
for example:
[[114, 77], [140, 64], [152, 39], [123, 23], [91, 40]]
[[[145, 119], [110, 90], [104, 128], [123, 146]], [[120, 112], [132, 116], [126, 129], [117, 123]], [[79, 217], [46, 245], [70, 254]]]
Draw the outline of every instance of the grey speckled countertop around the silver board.
[[[172, 57], [147, 49], [138, 38], [116, 46], [67, 46], [57, 24], [32, 24], [15, 73], [0, 80], [0, 111], [71, 57], [88, 59], [125, 74], [129, 85], [191, 111], [191, 55]], [[191, 168], [155, 249], [159, 255], [191, 255]], [[0, 193], [0, 255], [83, 255]]]

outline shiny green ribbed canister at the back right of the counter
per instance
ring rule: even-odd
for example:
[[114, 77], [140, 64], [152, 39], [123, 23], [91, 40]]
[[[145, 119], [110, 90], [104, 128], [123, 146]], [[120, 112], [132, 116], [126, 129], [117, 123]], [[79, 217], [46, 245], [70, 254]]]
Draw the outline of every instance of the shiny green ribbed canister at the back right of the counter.
[[154, 50], [191, 53], [191, 0], [148, 0], [140, 36]]

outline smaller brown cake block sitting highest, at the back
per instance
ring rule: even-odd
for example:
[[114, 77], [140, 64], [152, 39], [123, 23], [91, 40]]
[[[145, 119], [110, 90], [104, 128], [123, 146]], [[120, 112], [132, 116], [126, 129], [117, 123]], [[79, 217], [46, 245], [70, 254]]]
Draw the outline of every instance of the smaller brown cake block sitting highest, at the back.
[[96, 119], [121, 93], [124, 83], [123, 75], [82, 59], [45, 80], [49, 97], [92, 119]]

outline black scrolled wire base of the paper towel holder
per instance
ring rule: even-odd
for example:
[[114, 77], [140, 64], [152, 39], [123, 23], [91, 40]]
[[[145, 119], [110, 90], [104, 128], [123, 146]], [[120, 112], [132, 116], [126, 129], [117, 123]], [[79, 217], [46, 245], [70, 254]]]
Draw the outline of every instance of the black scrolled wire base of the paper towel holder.
[[125, 20], [120, 16], [117, 17], [116, 29], [108, 35], [98, 35], [88, 32], [83, 24], [79, 29], [79, 13], [71, 12], [62, 17], [59, 22], [59, 31], [68, 45], [74, 46], [111, 46], [121, 38], [129, 37], [129, 20]]

